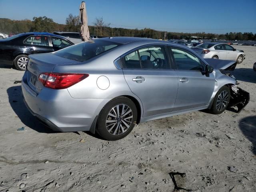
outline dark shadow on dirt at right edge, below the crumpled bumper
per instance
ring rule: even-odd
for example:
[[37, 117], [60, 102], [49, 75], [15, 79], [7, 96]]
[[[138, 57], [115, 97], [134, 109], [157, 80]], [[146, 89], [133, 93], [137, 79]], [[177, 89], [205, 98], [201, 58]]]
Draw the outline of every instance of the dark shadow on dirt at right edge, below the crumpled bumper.
[[256, 155], [256, 116], [242, 118], [239, 122], [239, 128], [244, 136], [252, 142], [252, 152]]

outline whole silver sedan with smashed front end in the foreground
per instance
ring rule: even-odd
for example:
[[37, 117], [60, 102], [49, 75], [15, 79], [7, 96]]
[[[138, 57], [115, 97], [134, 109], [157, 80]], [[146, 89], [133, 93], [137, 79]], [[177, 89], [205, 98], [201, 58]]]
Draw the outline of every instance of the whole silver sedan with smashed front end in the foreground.
[[236, 62], [205, 60], [175, 43], [101, 38], [29, 56], [24, 102], [41, 122], [61, 132], [98, 132], [107, 140], [135, 124], [227, 106], [239, 112], [249, 94], [230, 76]]

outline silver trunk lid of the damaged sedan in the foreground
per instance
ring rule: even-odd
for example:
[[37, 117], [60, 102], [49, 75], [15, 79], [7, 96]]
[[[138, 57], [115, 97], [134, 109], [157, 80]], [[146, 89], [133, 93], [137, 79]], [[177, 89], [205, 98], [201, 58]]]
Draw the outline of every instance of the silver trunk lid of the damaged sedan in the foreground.
[[28, 86], [34, 92], [40, 93], [44, 88], [42, 82], [38, 81], [38, 77], [42, 72], [52, 72], [56, 65], [77, 64], [78, 62], [66, 58], [56, 56], [52, 53], [31, 54], [27, 64]]

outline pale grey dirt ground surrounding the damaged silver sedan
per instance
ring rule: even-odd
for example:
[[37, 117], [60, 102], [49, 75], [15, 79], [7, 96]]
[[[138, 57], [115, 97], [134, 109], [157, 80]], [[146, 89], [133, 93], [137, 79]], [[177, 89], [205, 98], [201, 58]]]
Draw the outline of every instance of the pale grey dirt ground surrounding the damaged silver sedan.
[[154, 120], [115, 142], [44, 127], [26, 109], [20, 83], [14, 84], [24, 72], [0, 65], [0, 192], [170, 192], [172, 172], [186, 173], [174, 176], [186, 190], [255, 191], [256, 47], [235, 47], [246, 60], [233, 74], [251, 95], [240, 114]]

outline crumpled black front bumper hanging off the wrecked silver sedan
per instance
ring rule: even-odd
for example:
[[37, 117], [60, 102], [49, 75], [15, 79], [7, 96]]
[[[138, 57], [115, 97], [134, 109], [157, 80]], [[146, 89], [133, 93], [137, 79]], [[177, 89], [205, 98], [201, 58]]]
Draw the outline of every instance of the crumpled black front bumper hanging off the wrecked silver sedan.
[[238, 87], [238, 92], [231, 90], [230, 101], [228, 107], [237, 107], [235, 112], [240, 113], [241, 110], [249, 103], [250, 93]]

